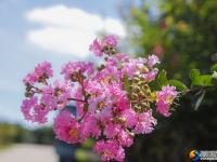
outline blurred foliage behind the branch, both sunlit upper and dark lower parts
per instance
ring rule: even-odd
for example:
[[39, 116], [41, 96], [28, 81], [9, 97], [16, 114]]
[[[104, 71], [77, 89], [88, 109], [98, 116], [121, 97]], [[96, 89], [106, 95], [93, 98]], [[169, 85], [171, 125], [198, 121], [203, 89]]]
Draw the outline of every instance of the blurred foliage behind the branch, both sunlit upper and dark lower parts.
[[[168, 78], [189, 85], [192, 68], [210, 73], [217, 63], [216, 0], [141, 0], [122, 11], [137, 55], [158, 55]], [[163, 122], [151, 135], [138, 136], [127, 161], [187, 162], [193, 149], [217, 149], [216, 90], [206, 92], [197, 111], [192, 107], [195, 93], [179, 100], [171, 118], [159, 118]]]

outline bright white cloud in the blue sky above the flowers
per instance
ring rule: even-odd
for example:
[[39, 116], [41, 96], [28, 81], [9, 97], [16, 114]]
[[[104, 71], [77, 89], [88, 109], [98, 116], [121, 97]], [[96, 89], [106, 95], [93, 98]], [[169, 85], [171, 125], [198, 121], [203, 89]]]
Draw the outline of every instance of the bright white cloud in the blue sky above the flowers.
[[118, 19], [65, 5], [37, 8], [27, 12], [25, 17], [42, 26], [29, 30], [27, 39], [44, 50], [59, 54], [86, 57], [89, 44], [100, 31], [126, 36]]

